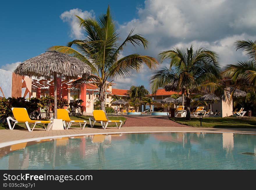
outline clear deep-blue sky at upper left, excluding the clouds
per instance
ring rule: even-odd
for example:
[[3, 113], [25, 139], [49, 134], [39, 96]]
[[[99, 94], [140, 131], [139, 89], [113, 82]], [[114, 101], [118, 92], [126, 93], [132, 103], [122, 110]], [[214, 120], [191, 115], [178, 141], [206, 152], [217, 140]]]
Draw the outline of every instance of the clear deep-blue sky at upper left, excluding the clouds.
[[111, 6], [113, 18], [119, 23], [136, 17], [136, 7], [144, 1], [2, 1], [0, 11], [1, 44], [0, 66], [24, 61], [39, 55], [53, 45], [66, 45], [73, 40], [70, 27], [60, 15], [79, 8], [93, 10], [95, 15]]

